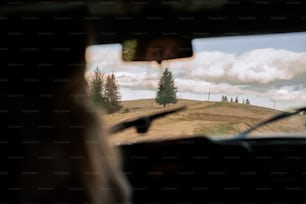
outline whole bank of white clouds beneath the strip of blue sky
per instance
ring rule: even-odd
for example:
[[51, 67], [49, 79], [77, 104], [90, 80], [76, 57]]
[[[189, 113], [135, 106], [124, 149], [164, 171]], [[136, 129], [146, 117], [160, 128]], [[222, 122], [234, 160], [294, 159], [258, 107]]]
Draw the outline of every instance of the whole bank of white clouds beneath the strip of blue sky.
[[[120, 49], [94, 48], [86, 54], [89, 71], [96, 66], [115, 73], [122, 99], [154, 97], [162, 69], [156, 63], [121, 60]], [[191, 59], [163, 62], [172, 71], [179, 95], [247, 95], [270, 100], [306, 101], [306, 53], [257, 49], [241, 55], [199, 52]], [[188, 94], [190, 93], [190, 94]]]

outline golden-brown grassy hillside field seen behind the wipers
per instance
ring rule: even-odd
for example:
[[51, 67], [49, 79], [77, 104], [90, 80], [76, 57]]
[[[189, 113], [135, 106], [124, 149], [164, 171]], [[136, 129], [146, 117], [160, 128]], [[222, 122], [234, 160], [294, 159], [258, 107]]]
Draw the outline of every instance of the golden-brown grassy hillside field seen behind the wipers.
[[[187, 106], [187, 109], [154, 121], [146, 134], [138, 134], [134, 128], [114, 134], [111, 136], [111, 142], [114, 144], [192, 137], [194, 135], [232, 137], [279, 113], [278, 110], [252, 105], [183, 99], [166, 108], [156, 104], [153, 99], [124, 101], [121, 105], [122, 109], [118, 113], [103, 116], [107, 128], [121, 121], [167, 109], [180, 106]], [[306, 116], [295, 116], [264, 126], [253, 134], [305, 133], [305, 123]]]

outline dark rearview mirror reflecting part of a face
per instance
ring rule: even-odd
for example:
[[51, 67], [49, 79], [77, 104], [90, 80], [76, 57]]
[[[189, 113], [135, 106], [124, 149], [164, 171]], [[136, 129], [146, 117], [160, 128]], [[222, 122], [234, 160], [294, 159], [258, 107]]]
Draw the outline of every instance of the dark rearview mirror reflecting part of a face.
[[192, 57], [191, 40], [179, 38], [130, 39], [122, 43], [123, 61], [157, 61]]

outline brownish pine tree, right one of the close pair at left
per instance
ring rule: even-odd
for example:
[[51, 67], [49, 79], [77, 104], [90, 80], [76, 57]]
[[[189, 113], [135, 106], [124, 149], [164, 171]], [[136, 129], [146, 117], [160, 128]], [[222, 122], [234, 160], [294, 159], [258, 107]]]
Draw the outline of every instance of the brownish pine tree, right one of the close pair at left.
[[105, 98], [108, 113], [114, 113], [120, 110], [121, 106], [119, 104], [119, 100], [121, 97], [119, 93], [119, 84], [114, 74], [106, 77]]

